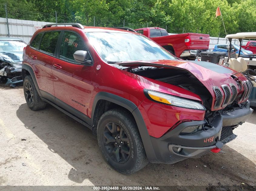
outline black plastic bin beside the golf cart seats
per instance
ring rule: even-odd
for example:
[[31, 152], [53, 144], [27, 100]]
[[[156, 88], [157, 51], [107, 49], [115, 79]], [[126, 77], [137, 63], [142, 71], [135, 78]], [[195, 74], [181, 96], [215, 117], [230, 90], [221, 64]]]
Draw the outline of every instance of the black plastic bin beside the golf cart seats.
[[226, 54], [225, 52], [201, 52], [201, 61], [222, 65]]

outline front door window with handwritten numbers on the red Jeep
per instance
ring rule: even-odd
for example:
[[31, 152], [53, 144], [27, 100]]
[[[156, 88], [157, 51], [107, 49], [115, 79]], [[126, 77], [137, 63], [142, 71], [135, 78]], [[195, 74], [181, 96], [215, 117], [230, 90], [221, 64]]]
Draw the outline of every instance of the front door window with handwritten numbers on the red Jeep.
[[[77, 33], [65, 31], [61, 40], [60, 58], [77, 63], [73, 57], [73, 54], [77, 50], [88, 51], [84, 41]], [[90, 55], [87, 54], [87, 56], [86, 59], [91, 60]]]

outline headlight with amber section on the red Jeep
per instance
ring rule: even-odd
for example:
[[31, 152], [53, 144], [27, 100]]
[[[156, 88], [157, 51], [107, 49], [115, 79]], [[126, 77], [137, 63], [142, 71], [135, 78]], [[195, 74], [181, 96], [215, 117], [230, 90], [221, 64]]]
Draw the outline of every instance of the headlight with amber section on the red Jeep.
[[195, 109], [195, 110], [206, 110], [202, 104], [195, 101], [183, 99], [180, 97], [176, 97], [176, 96], [172, 96], [172, 95], [168, 95], [168, 94], [164, 94], [164, 93], [160, 93], [152, 90], [144, 90], [144, 92], [149, 99], [154, 100], [158, 103], [164, 103], [164, 104], [168, 104], [176, 107], [184, 107], [184, 108]]

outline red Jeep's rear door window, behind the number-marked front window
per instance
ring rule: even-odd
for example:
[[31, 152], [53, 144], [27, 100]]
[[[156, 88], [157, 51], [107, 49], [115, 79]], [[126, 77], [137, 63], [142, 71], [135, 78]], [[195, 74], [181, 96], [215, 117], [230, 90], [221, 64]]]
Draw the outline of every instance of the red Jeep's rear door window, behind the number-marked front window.
[[60, 31], [46, 32], [42, 38], [39, 50], [54, 55]]

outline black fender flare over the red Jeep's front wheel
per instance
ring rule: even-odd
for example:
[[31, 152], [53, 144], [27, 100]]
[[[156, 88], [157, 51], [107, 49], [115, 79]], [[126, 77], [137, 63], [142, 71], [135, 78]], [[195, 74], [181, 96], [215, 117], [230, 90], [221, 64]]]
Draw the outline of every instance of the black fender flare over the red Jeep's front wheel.
[[91, 112], [91, 126], [93, 126], [93, 117], [94, 117], [94, 113], [95, 113], [95, 109], [96, 109], [96, 105], [98, 103], [99, 100], [107, 100], [110, 101], [112, 103], [115, 103], [117, 105], [120, 105], [124, 108], [126, 108], [127, 110], [129, 110], [132, 115], [134, 116], [134, 119], [137, 123], [140, 135], [141, 135], [141, 139], [147, 154], [147, 158], [150, 162], [156, 162], [158, 161], [155, 155], [155, 151], [151, 142], [151, 138], [150, 135], [148, 134], [148, 130], [146, 127], [146, 124], [144, 122], [144, 119], [141, 115], [140, 110], [138, 109], [138, 107], [131, 102], [130, 100], [127, 100], [123, 97], [117, 96], [115, 94], [111, 94], [108, 92], [99, 92], [98, 94], [96, 94], [94, 101], [93, 101], [93, 105], [92, 105], [92, 112]]

